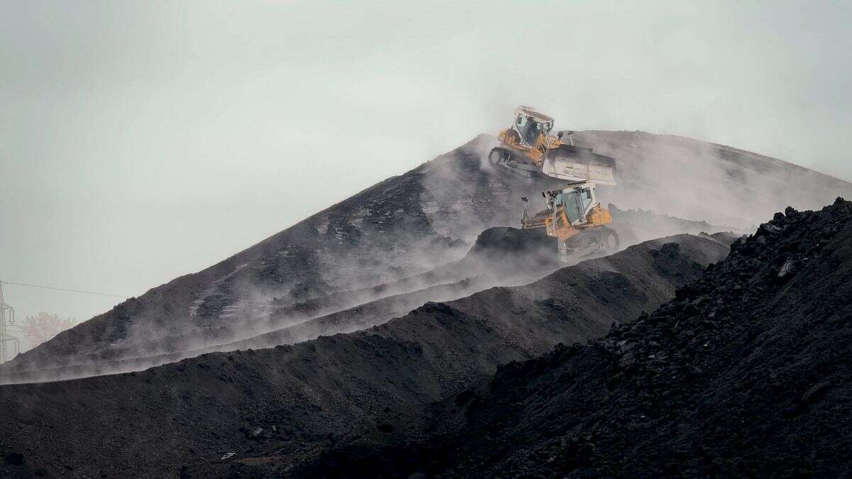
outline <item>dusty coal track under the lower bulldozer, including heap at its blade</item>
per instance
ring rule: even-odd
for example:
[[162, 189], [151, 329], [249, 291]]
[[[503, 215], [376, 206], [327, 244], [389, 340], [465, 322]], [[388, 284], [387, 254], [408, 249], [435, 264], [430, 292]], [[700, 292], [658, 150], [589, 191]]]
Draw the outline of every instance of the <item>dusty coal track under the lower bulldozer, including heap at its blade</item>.
[[[614, 205], [610, 205], [610, 208], [615, 218], [612, 228], [622, 238], [622, 247], [651, 240], [656, 237], [650, 236], [654, 232], [674, 235], [704, 234], [709, 231], [713, 232], [716, 240], [727, 243], [733, 242], [737, 236], [724, 233], [725, 228], [706, 222], [682, 220], [649, 211], [621, 211]], [[542, 229], [488, 228], [477, 237], [467, 255], [458, 261], [393, 283], [342, 291], [277, 308], [270, 315], [246, 321], [243, 338], [237, 341], [137, 358], [42, 367], [37, 370], [0, 371], [0, 384], [141, 371], [205, 353], [272, 348], [339, 332], [354, 332], [406, 315], [423, 303], [452, 301], [495, 285], [524, 285], [541, 279], [570, 264], [561, 263], [555, 253], [555, 240], [544, 234]], [[603, 251], [593, 249], [573, 257], [572, 261], [579, 263], [602, 254]], [[357, 306], [348, 306], [353, 303]]]

